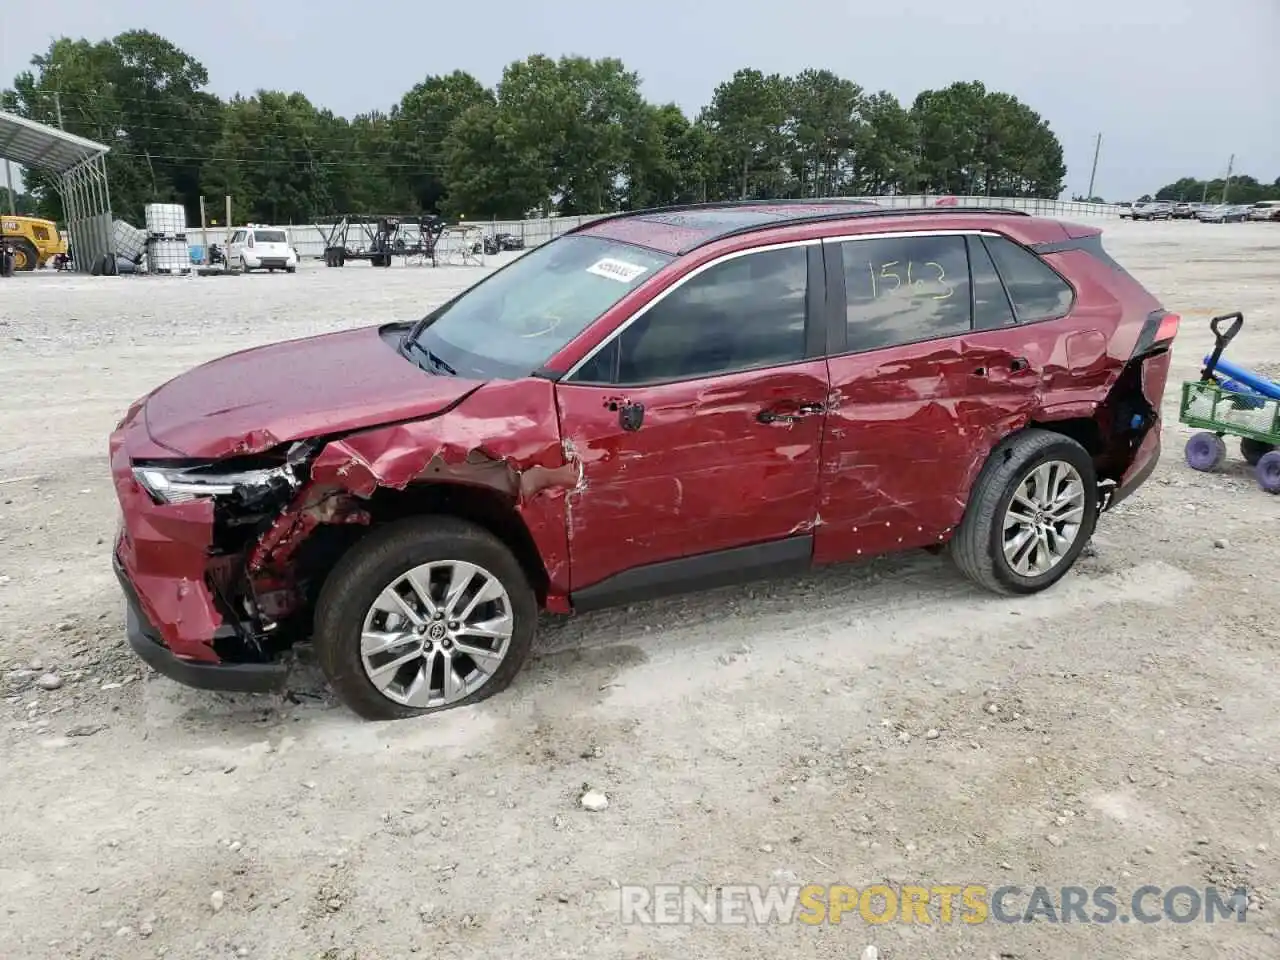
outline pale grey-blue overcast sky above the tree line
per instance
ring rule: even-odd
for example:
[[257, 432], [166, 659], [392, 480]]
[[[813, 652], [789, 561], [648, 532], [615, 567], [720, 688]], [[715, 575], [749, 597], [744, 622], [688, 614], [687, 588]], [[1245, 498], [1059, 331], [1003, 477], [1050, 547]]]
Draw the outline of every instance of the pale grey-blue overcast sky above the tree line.
[[[19, 12], [24, 10], [24, 12]], [[32, 13], [36, 12], [36, 13]], [[541, 52], [617, 56], [692, 115], [733, 70], [827, 68], [905, 105], [982, 81], [1043, 116], [1064, 196], [1132, 200], [1179, 177], [1280, 177], [1280, 0], [58, 0], [0, 3], [0, 84], [58, 36], [160, 33], [221, 96], [297, 90], [335, 113], [388, 109], [428, 74], [486, 84]]]

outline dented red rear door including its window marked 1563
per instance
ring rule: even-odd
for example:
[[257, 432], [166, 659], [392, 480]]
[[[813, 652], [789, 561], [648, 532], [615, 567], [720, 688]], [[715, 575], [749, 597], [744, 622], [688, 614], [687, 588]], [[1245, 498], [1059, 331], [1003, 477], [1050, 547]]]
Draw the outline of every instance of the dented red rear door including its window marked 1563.
[[961, 232], [824, 247], [828, 297], [844, 310], [832, 315], [814, 558], [940, 543], [964, 513], [996, 421], [1029, 416], [1037, 366], [1010, 353], [1004, 332], [973, 330], [974, 294], [980, 303], [992, 292], [970, 282]]

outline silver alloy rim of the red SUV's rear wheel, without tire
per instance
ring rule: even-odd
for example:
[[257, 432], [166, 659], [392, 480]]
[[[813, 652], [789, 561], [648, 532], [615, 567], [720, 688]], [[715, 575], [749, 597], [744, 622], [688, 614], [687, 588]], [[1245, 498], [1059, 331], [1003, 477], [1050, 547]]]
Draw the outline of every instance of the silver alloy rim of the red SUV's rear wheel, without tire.
[[1014, 488], [1005, 511], [1004, 550], [1010, 568], [1043, 576], [1071, 550], [1084, 522], [1084, 480], [1070, 463], [1036, 466]]

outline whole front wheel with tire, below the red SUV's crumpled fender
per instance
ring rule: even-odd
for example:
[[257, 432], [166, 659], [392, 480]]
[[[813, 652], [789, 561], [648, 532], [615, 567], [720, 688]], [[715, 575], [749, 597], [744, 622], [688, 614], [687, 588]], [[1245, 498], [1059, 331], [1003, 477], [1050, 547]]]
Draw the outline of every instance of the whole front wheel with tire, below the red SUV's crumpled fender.
[[339, 563], [315, 614], [320, 667], [365, 719], [476, 703], [507, 687], [534, 641], [538, 602], [486, 530], [416, 517], [371, 532]]

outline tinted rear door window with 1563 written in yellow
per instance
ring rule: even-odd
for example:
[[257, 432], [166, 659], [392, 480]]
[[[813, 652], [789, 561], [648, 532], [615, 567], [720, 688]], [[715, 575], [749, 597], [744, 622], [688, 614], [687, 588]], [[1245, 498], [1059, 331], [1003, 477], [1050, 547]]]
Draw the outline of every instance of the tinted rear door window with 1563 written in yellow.
[[876, 237], [841, 244], [849, 351], [969, 330], [964, 237]]

